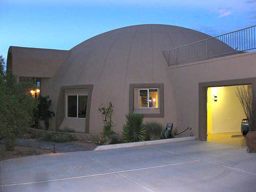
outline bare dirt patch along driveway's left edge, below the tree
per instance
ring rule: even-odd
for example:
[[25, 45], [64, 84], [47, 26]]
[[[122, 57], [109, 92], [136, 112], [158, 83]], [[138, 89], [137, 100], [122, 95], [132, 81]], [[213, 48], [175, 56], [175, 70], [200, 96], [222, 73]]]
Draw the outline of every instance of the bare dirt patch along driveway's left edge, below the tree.
[[35, 147], [15, 146], [14, 151], [6, 151], [4, 144], [0, 143], [0, 161], [32, 155], [50, 154], [52, 150]]

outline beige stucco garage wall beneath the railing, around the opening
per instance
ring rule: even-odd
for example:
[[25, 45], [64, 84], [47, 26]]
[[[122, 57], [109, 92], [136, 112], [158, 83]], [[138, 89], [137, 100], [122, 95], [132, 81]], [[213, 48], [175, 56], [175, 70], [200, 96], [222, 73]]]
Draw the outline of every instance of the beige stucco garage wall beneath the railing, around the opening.
[[198, 84], [256, 77], [256, 52], [174, 66], [167, 71], [174, 89], [178, 127], [191, 126], [198, 138]]

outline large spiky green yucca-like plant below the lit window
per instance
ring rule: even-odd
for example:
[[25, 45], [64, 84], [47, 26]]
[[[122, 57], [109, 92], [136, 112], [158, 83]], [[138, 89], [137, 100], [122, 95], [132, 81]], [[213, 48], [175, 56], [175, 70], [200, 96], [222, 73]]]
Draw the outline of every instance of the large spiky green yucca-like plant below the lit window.
[[143, 125], [143, 114], [128, 114], [122, 134], [125, 142], [138, 142], [146, 139], [146, 130]]

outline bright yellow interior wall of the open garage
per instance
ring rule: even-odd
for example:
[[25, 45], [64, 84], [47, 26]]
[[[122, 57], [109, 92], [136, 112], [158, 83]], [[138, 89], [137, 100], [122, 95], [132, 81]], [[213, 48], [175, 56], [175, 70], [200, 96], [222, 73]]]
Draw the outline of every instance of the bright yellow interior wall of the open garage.
[[[240, 132], [241, 120], [245, 118], [236, 96], [237, 86], [212, 87], [207, 90], [207, 132]], [[217, 96], [217, 101], [214, 101]]]

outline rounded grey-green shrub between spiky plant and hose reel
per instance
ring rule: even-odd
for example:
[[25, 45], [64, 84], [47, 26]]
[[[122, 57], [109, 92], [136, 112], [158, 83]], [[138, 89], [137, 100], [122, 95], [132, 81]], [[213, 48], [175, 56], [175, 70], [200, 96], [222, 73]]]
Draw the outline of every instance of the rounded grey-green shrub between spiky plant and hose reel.
[[160, 139], [161, 132], [164, 129], [164, 126], [161, 123], [156, 121], [146, 122], [144, 124], [146, 129], [146, 140], [156, 140]]

